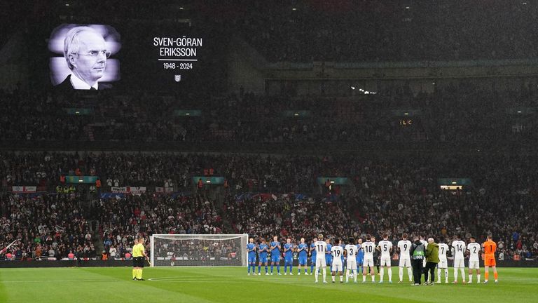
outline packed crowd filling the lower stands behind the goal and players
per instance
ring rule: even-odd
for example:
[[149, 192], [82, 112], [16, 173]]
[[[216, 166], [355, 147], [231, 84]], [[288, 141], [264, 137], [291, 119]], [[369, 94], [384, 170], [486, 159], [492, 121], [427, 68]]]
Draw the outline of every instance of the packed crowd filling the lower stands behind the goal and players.
[[[122, 256], [129, 251], [130, 236], [137, 233], [246, 232], [297, 240], [319, 231], [355, 237], [387, 232], [392, 241], [404, 231], [446, 239], [492, 233], [506, 259], [538, 255], [534, 156], [424, 154], [402, 160], [366, 155], [22, 152], [1, 153], [0, 159], [1, 171], [6, 172], [1, 176], [4, 190], [13, 185], [54, 189], [60, 175], [77, 170], [101, 176], [103, 191], [116, 182], [149, 187], [141, 196], [95, 194], [89, 205], [82, 192], [3, 194], [0, 217], [6, 232], [0, 241], [4, 245], [22, 238], [21, 257], [23, 252], [34, 255], [38, 243], [41, 255], [48, 255], [50, 248], [60, 256], [70, 251], [93, 254], [96, 236], [107, 255]], [[209, 169], [226, 178], [223, 201], [212, 196], [212, 188], [198, 188], [192, 181], [193, 175]], [[353, 184], [333, 187], [329, 193], [324, 185], [316, 185], [315, 177], [324, 175], [347, 176]], [[474, 186], [441, 191], [437, 179], [453, 175], [469, 177]], [[180, 194], [153, 194], [151, 186], [165, 185]], [[251, 192], [267, 194], [244, 195]], [[305, 195], [296, 195], [300, 193]], [[99, 222], [89, 240], [88, 220]]]

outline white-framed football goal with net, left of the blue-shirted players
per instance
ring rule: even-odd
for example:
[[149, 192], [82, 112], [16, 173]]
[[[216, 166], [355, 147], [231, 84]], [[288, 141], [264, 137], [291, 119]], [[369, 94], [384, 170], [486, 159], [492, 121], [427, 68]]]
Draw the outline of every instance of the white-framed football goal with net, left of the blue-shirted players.
[[248, 239], [248, 234], [154, 234], [151, 267], [246, 267]]

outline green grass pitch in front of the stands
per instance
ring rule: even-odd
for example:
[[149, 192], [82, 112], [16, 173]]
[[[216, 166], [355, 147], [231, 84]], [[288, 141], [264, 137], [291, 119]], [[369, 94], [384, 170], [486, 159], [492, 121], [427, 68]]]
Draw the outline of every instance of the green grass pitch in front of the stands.
[[[490, 279], [487, 285], [418, 287], [372, 284], [369, 277], [364, 284], [340, 284], [337, 277], [333, 284], [327, 276], [329, 284], [315, 284], [313, 276], [296, 276], [296, 268], [294, 274], [247, 276], [246, 267], [166, 267], [146, 268], [146, 281], [132, 281], [129, 267], [0, 269], [0, 302], [538, 302], [538, 268], [499, 268], [498, 284]], [[397, 268], [392, 274], [398, 281]], [[449, 281], [452, 275], [450, 269]]]

